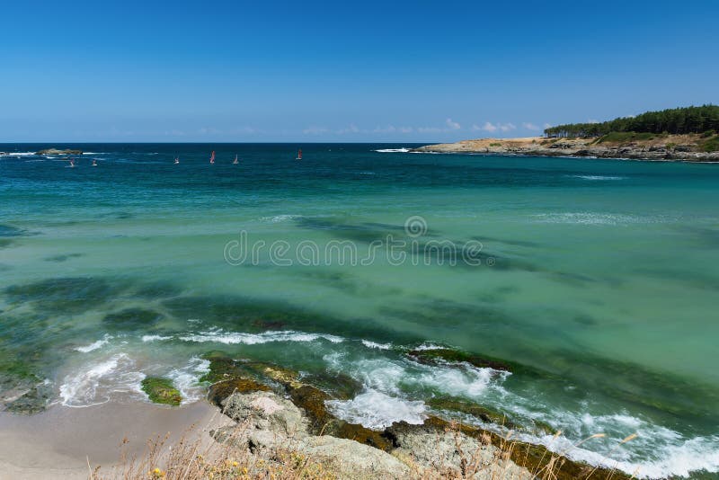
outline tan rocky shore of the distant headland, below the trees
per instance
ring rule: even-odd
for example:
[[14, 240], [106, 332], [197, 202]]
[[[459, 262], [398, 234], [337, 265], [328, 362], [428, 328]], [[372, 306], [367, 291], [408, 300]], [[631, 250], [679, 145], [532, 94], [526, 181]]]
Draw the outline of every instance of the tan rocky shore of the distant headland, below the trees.
[[698, 135], [669, 135], [630, 141], [601, 141], [601, 138], [477, 138], [455, 143], [427, 145], [413, 148], [411, 151], [435, 154], [566, 156], [692, 163], [719, 162], [719, 152], [699, 151], [700, 139]]

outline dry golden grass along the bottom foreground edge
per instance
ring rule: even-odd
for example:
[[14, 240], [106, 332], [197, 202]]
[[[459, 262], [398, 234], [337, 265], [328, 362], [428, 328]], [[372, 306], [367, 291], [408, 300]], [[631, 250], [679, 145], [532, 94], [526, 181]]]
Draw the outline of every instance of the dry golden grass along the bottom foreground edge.
[[[149, 440], [146, 449], [140, 456], [127, 454], [127, 440], [121, 445], [120, 462], [113, 467], [103, 469], [90, 467], [88, 460], [89, 478], [91, 480], [226, 480], [226, 479], [333, 479], [338, 476], [333, 467], [328, 466], [322, 458], [309, 458], [303, 453], [292, 449], [291, 445], [278, 449], [265, 449], [250, 451], [238, 445], [244, 445], [239, 440], [244, 433], [240, 426], [234, 429], [232, 436], [217, 442], [209, 438], [209, 426], [197, 430], [191, 428], [181, 440], [174, 444], [168, 443], [168, 436]], [[498, 443], [492, 434], [484, 432], [477, 440], [481, 447], [473, 451], [465, 451], [466, 436], [461, 432], [461, 425], [452, 424], [445, 434], [453, 435], [456, 451], [459, 457], [457, 465], [420, 466], [412, 459], [404, 463], [408, 465], [409, 478], [415, 479], [466, 479], [482, 478], [483, 480], [562, 480], [568, 478], [561, 473], [561, 465], [566, 451], [552, 453], [546, 450], [547, 458], [540, 458], [535, 462], [537, 467], [530, 467], [529, 475], [518, 475], [510, 467], [518, 463], [519, 446], [525, 444], [511, 440], [512, 432], [503, 437]], [[557, 431], [554, 440], [561, 436]], [[592, 435], [587, 439], [573, 445], [578, 447], [582, 443], [603, 437], [603, 434]], [[627, 441], [633, 440], [634, 435], [626, 437], [617, 444], [621, 448]], [[487, 458], [486, 450], [492, 449], [491, 458]], [[524, 450], [528, 451], [528, 450]], [[519, 458], [519, 463], [522, 462]], [[528, 460], [528, 458], [524, 458]], [[599, 475], [597, 475], [599, 472]], [[636, 475], [636, 472], [635, 472]], [[632, 476], [631, 478], [634, 478]], [[593, 468], [582, 476], [574, 476], [586, 480], [612, 478], [627, 478], [616, 470], [599, 470]]]

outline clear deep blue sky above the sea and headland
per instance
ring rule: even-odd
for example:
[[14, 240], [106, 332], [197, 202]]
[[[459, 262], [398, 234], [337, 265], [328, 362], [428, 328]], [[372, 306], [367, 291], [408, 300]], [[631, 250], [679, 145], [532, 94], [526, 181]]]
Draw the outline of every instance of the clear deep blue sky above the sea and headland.
[[0, 141], [397, 141], [719, 103], [719, 3], [0, 6]]

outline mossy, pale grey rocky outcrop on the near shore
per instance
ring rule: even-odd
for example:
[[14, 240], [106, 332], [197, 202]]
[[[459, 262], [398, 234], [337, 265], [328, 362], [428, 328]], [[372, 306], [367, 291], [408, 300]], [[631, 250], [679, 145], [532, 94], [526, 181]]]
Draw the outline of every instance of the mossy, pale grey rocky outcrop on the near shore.
[[[413, 355], [420, 357], [420, 352]], [[419, 425], [395, 422], [384, 431], [373, 431], [335, 417], [326, 402], [337, 398], [337, 394], [306, 383], [297, 372], [263, 362], [233, 360], [222, 352], [211, 352], [206, 358], [210, 360], [210, 370], [205, 379], [215, 381], [209, 396], [236, 422], [212, 432], [217, 441], [253, 452], [271, 452], [270, 457], [289, 449], [320, 462], [339, 478], [447, 476], [520, 480], [534, 478], [532, 473], [546, 471], [547, 466], [555, 469], [553, 478], [557, 480], [589, 475], [599, 480], [628, 478], [616, 471], [594, 469], [559, 457], [542, 446], [508, 442], [493, 431], [437, 416]], [[441, 351], [422, 360], [483, 366], [494, 361], [452, 351]], [[494, 364], [500, 366], [503, 365]], [[435, 406], [440, 410], [469, 410], [487, 422], [515, 427], [501, 413], [460, 404], [457, 399], [443, 399]]]

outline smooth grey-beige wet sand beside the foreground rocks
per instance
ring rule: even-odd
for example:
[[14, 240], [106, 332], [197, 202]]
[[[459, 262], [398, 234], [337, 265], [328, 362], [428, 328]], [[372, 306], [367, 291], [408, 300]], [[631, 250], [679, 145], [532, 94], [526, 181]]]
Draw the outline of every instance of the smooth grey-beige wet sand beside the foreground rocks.
[[127, 439], [130, 455], [146, 440], [170, 433], [172, 445], [193, 425], [192, 436], [209, 440], [209, 427], [229, 422], [216, 407], [197, 402], [179, 408], [153, 404], [56, 405], [31, 416], [0, 413], [0, 479], [87, 478], [88, 458], [109, 473]]

